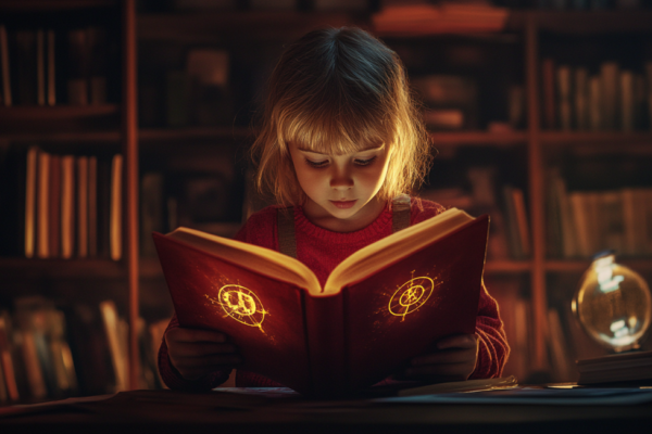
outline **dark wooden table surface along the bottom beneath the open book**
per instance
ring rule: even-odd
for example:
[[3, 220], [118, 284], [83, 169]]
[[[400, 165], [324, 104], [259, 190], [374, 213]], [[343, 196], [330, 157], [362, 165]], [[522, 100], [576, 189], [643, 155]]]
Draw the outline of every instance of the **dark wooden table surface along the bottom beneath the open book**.
[[[2, 409], [0, 409], [2, 410]], [[133, 391], [0, 411], [0, 433], [648, 433], [652, 401], [505, 405]], [[4, 410], [8, 411], [7, 409]]]

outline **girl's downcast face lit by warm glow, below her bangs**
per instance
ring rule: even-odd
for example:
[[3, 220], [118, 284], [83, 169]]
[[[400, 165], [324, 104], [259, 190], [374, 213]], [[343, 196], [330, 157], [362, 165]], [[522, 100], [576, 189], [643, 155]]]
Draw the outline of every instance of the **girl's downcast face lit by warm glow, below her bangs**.
[[351, 232], [369, 225], [385, 204], [376, 194], [385, 182], [387, 146], [352, 154], [323, 154], [290, 144], [299, 184], [308, 195], [306, 217], [325, 229]]

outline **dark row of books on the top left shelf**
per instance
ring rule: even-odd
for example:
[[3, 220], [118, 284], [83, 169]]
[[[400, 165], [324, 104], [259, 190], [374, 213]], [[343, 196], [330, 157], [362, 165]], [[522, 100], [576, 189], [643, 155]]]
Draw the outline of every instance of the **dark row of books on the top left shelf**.
[[[60, 38], [67, 38], [67, 43], [58, 41]], [[102, 27], [64, 33], [51, 28], [8, 29], [0, 24], [0, 103], [104, 104], [108, 55]]]

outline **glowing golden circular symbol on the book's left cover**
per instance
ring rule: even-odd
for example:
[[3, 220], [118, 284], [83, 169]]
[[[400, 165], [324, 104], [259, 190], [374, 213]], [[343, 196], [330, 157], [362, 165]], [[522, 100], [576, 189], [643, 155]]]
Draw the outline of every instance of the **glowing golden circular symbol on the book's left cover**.
[[208, 295], [206, 298], [211, 303], [222, 306], [226, 315], [236, 321], [263, 330], [262, 323], [267, 312], [258, 295], [248, 288], [237, 284], [224, 285], [220, 289], [217, 301], [210, 298]]

